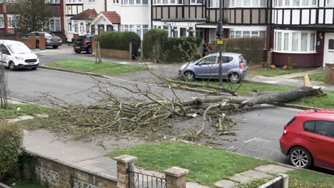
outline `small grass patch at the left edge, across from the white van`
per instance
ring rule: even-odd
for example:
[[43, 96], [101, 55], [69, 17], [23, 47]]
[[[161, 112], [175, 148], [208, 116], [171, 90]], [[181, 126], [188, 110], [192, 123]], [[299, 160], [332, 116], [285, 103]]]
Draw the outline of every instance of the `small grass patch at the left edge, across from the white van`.
[[[18, 108], [20, 108], [18, 110]], [[0, 120], [14, 119], [22, 115], [36, 115], [47, 113], [48, 108], [40, 105], [9, 105], [9, 109], [0, 109]]]

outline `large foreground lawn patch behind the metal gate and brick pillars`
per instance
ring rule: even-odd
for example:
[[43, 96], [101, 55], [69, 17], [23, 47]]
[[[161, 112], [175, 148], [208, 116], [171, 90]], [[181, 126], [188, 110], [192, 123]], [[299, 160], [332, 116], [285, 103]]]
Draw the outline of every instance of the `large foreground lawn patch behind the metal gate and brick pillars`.
[[174, 166], [189, 169], [188, 182], [209, 186], [233, 174], [270, 164], [266, 160], [182, 142], [155, 142], [108, 153], [108, 157], [119, 155], [136, 156], [136, 166], [159, 172]]

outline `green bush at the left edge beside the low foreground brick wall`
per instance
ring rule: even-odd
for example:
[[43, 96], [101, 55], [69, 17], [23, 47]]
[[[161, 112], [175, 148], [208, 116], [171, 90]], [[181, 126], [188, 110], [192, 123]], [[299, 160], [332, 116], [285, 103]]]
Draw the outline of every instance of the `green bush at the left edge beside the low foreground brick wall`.
[[22, 142], [23, 132], [19, 125], [0, 122], [0, 179], [18, 162]]

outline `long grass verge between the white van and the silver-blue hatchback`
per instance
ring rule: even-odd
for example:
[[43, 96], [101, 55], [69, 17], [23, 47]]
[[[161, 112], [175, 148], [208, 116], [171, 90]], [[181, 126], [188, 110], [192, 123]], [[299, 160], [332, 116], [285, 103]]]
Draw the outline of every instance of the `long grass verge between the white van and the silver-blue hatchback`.
[[46, 66], [54, 68], [64, 68], [71, 71], [96, 73], [101, 75], [133, 73], [147, 70], [146, 68], [141, 66], [128, 66], [119, 63], [96, 64], [95, 61], [83, 59], [67, 59], [63, 61], [55, 61], [51, 63], [46, 63]]

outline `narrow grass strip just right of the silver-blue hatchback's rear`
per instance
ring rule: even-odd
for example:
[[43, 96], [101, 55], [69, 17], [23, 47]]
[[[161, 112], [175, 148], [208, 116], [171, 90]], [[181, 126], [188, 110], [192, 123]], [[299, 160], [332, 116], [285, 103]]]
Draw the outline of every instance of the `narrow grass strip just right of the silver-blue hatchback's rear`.
[[273, 77], [278, 75], [286, 75], [293, 73], [302, 73], [306, 71], [312, 71], [310, 68], [293, 68], [292, 70], [283, 70], [282, 68], [260, 68], [257, 70], [250, 70], [247, 73], [250, 75], [263, 75], [267, 77]]

